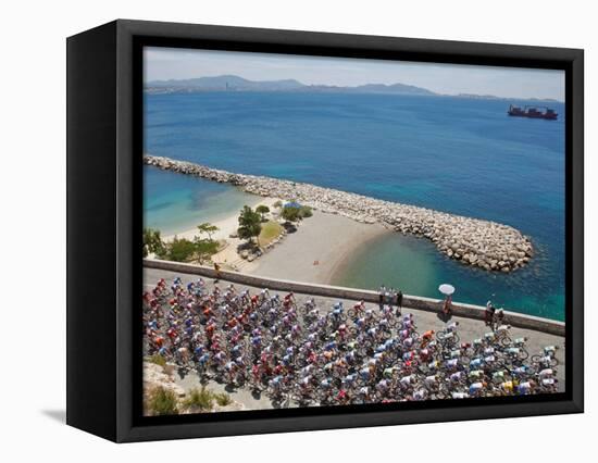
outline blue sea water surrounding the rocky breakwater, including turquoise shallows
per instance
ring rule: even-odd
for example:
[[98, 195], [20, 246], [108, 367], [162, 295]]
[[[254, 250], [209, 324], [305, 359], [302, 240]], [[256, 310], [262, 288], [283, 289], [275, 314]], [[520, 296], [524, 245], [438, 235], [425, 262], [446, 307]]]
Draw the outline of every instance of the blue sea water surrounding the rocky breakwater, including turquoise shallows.
[[[507, 116], [506, 101], [451, 97], [203, 92], [145, 101], [148, 153], [493, 220], [528, 235], [536, 249], [528, 266], [497, 275], [395, 234], [356, 253], [334, 283], [429, 297], [451, 283], [459, 301], [493, 298], [564, 318], [563, 104], [550, 104], [558, 121], [543, 121]], [[204, 218], [245, 201], [233, 187], [149, 171], [147, 224], [189, 228], [175, 224], [179, 199], [187, 210], [200, 204]]]

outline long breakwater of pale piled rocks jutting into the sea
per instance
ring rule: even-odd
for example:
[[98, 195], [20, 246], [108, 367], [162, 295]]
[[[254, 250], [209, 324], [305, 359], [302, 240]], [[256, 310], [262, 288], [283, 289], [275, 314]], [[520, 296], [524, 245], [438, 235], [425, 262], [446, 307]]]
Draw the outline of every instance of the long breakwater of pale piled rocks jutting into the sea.
[[383, 201], [347, 191], [277, 178], [234, 174], [190, 162], [146, 155], [145, 163], [219, 183], [244, 191], [300, 201], [325, 213], [363, 223], [381, 223], [403, 234], [425, 237], [447, 256], [486, 271], [509, 273], [533, 256], [530, 239], [518, 229], [496, 222], [453, 215], [431, 209]]

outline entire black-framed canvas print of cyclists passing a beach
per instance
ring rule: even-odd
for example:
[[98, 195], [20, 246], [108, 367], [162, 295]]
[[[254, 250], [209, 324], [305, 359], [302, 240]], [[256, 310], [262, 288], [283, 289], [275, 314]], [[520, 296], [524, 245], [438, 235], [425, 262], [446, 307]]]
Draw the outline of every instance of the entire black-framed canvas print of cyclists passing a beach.
[[67, 423], [583, 411], [583, 51], [116, 21], [67, 40]]

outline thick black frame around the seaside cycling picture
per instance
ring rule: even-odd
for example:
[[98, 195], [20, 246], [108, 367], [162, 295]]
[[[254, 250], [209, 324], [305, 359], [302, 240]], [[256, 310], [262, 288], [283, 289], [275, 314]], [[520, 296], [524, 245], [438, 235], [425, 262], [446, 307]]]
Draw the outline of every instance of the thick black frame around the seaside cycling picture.
[[[66, 45], [67, 424], [126, 442], [583, 412], [583, 50], [123, 20]], [[142, 417], [144, 46], [564, 70], [566, 391], [409, 408]]]

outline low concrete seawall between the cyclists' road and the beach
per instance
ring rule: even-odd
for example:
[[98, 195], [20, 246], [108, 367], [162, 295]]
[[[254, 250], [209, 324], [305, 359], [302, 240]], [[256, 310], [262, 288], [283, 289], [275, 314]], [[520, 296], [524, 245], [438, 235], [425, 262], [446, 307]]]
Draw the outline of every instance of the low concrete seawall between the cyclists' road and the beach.
[[[214, 278], [215, 271], [211, 267], [184, 264], [179, 262], [159, 261], [152, 259], [144, 260], [144, 266], [180, 274], [195, 274]], [[269, 288], [281, 291], [292, 291], [297, 293], [323, 296], [338, 299], [364, 300], [371, 303], [378, 302], [378, 293], [364, 289], [344, 288], [339, 286], [315, 285], [298, 281], [288, 281], [276, 278], [265, 278], [256, 275], [246, 275], [237, 272], [221, 271], [221, 278], [239, 285], [248, 285], [257, 288]], [[411, 309], [418, 309], [427, 312], [439, 312], [441, 300], [422, 298], [418, 296], [403, 296], [403, 305]], [[484, 308], [473, 304], [453, 302], [452, 312], [456, 316], [463, 316], [474, 320], [484, 320]], [[565, 325], [548, 318], [541, 318], [533, 315], [524, 315], [516, 312], [504, 312], [504, 323], [519, 328], [533, 329], [557, 336], [564, 336]]]

